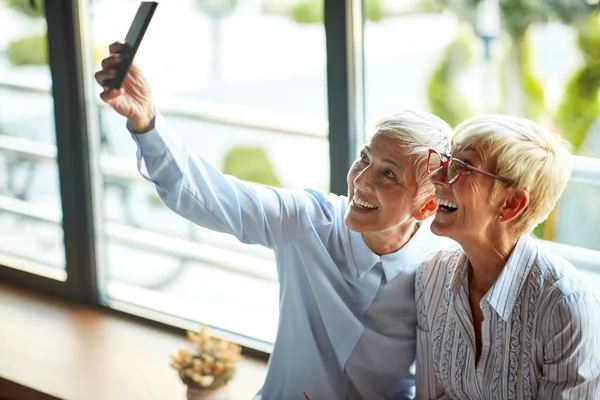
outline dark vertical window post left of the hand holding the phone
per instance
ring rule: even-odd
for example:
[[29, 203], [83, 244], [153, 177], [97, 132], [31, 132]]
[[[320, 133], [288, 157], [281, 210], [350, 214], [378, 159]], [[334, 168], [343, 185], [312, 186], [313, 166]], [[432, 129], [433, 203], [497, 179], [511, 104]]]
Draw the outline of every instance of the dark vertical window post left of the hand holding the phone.
[[77, 0], [46, 1], [67, 287], [96, 302], [95, 240]]

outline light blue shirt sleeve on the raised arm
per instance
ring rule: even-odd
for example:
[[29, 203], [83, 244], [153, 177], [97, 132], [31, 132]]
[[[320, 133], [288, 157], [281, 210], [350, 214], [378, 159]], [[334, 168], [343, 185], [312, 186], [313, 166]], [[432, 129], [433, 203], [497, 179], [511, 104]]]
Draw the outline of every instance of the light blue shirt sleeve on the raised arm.
[[149, 132], [129, 130], [142, 176], [154, 183], [167, 207], [200, 226], [274, 248], [335, 214], [322, 193], [252, 185], [223, 175], [192, 154], [158, 113]]

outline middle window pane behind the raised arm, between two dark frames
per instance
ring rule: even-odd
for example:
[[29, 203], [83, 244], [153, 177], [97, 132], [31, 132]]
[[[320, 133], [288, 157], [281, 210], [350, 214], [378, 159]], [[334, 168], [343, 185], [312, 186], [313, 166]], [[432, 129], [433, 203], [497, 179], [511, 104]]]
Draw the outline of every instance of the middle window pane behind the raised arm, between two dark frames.
[[[138, 5], [122, 1], [115, 14], [114, 1], [90, 3], [96, 68], [108, 44], [125, 37]], [[162, 2], [136, 63], [168, 123], [224, 173], [328, 191], [325, 31], [303, 16], [301, 7], [278, 1]], [[133, 304], [273, 342], [278, 283], [272, 252], [167, 209], [137, 173], [125, 120], [94, 107], [106, 259], [100, 279], [112, 305]]]

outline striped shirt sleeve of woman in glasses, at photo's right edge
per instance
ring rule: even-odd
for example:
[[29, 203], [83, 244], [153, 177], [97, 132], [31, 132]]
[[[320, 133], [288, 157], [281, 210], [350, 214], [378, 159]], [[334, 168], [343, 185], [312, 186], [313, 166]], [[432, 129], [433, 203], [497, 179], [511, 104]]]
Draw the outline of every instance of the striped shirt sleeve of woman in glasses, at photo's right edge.
[[541, 399], [600, 399], [600, 303], [589, 293], [565, 297], [549, 316]]

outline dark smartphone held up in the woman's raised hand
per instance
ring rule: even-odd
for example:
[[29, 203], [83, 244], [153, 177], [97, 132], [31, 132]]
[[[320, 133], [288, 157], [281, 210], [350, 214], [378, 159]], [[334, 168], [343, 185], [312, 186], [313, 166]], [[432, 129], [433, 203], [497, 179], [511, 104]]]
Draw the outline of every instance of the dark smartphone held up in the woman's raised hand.
[[146, 33], [146, 29], [154, 15], [156, 6], [158, 6], [156, 1], [142, 1], [140, 3], [140, 8], [138, 8], [135, 18], [129, 27], [129, 32], [127, 32], [127, 36], [125, 37], [125, 48], [119, 53], [122, 61], [117, 66], [117, 76], [113, 79], [104, 81], [105, 87], [110, 89], [120, 89], [123, 85], [123, 81], [125, 81], [125, 76], [127, 76], [127, 72], [129, 72], [129, 67], [131, 67], [135, 53], [137, 53], [137, 49], [140, 47], [140, 43], [142, 43], [144, 33]]

